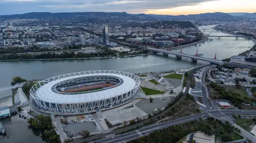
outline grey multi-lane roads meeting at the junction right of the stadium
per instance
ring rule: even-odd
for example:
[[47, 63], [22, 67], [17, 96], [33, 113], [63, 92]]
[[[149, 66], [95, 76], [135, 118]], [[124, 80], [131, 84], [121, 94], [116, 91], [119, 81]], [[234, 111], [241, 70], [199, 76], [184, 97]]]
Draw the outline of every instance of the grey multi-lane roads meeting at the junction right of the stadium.
[[[207, 67], [209, 65], [206, 65], [204, 67]], [[80, 140], [75, 140], [72, 143], [83, 143], [84, 141], [92, 141], [92, 140], [97, 140], [100, 138], [103, 138], [102, 140], [97, 140], [97, 141], [93, 141], [91, 143], [120, 143], [122, 141], [130, 141], [130, 140], [134, 140], [137, 138], [140, 138], [141, 136], [146, 136], [149, 135], [149, 133], [154, 132], [158, 129], [164, 129], [167, 128], [169, 126], [173, 126], [173, 125], [177, 125], [180, 123], [185, 123], [188, 121], [192, 121], [192, 120], [199, 120], [199, 118], [207, 118], [207, 116], [213, 116], [214, 118], [218, 118], [221, 119], [222, 121], [229, 121], [233, 126], [238, 127], [241, 130], [241, 134], [244, 135], [246, 137], [246, 140], [256, 140], [256, 137], [254, 137], [253, 135], [251, 135], [250, 133], [246, 132], [244, 129], [242, 129], [240, 126], [237, 126], [236, 123], [233, 122], [233, 117], [230, 114], [235, 114], [235, 115], [256, 115], [256, 110], [234, 110], [234, 109], [229, 109], [229, 110], [219, 110], [218, 108], [214, 107], [212, 102], [210, 100], [208, 100], [209, 98], [209, 93], [207, 90], [207, 87], [205, 86], [205, 81], [204, 81], [204, 77], [207, 73], [207, 70], [209, 70], [210, 68], [213, 68], [214, 66], [210, 66], [207, 67], [206, 70], [203, 71], [202, 73], [202, 78], [201, 78], [201, 89], [202, 89], [202, 93], [204, 96], [204, 102], [207, 103], [207, 112], [203, 112], [197, 115], [192, 115], [192, 116], [188, 116], [185, 118], [179, 118], [176, 120], [172, 120], [172, 121], [168, 121], [168, 122], [163, 122], [163, 123], [154, 123], [148, 126], [144, 126], [140, 129], [137, 129], [135, 131], [131, 131], [131, 132], [127, 132], [125, 134], [121, 134], [121, 135], [116, 135], [113, 138], [112, 137], [108, 137], [105, 138], [105, 136], [107, 135], [112, 135], [112, 134], [118, 134], [119, 132], [124, 132], [127, 131], [129, 129], [135, 129], [137, 126], [141, 126], [144, 125], [145, 121], [142, 121], [140, 123], [135, 124], [134, 126], [128, 126], [126, 128], [122, 128], [120, 130], [116, 130], [116, 131], [112, 131], [112, 132], [108, 132], [106, 134], [103, 135], [97, 135], [97, 136], [92, 136], [89, 138], [84, 138], [84, 139], [80, 139]], [[194, 70], [192, 70], [191, 73], [189, 73], [188, 78], [187, 78], [187, 84], [186, 87], [189, 87], [189, 81], [191, 79], [191, 77], [194, 75], [195, 71], [198, 69], [201, 69], [203, 67], [200, 68], [195, 68]], [[185, 93], [183, 94], [183, 96], [186, 95], [186, 93], [188, 93], [189, 88], [186, 88]], [[182, 99], [182, 98], [180, 98]], [[179, 103], [179, 101], [177, 102]], [[163, 112], [161, 112], [161, 114], [165, 114], [165, 112], [168, 110], [164, 110]], [[160, 116], [160, 115], [157, 115]]]

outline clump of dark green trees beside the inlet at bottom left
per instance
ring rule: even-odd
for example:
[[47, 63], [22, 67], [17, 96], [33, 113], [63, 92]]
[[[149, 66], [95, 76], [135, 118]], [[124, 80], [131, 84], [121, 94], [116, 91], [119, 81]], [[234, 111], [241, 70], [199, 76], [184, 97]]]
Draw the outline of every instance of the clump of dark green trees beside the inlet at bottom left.
[[49, 143], [61, 143], [60, 135], [55, 132], [52, 119], [49, 116], [39, 115], [37, 119], [29, 118], [27, 123], [33, 128], [38, 129]]

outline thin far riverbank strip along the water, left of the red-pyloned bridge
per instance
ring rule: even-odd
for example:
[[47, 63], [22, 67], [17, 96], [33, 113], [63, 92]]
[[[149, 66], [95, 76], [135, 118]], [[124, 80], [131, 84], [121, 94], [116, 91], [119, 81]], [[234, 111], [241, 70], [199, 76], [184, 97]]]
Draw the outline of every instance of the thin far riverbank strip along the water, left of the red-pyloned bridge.
[[91, 58], [62, 58], [62, 59], [6, 59], [0, 60], [0, 62], [7, 62], [7, 61], [38, 61], [38, 60], [67, 60], [67, 59], [110, 59], [110, 58], [129, 58], [134, 56], [146, 56], [148, 54], [153, 53], [145, 53], [145, 54], [138, 54], [138, 55], [128, 55], [128, 56], [111, 56], [111, 57], [91, 57]]

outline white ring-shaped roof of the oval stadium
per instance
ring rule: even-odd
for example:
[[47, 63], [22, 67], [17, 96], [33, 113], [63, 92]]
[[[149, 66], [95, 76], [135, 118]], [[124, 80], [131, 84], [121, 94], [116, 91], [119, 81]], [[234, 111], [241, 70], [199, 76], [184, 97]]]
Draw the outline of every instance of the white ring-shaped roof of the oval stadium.
[[[58, 94], [52, 91], [52, 87], [61, 82], [68, 79], [75, 79], [79, 77], [86, 77], [86, 76], [116, 76], [123, 80], [123, 83], [117, 87], [113, 87], [106, 90], [101, 90], [92, 93], [81, 93], [81, 94]], [[36, 91], [36, 96], [40, 98], [42, 101], [50, 102], [50, 103], [57, 103], [57, 104], [73, 104], [73, 103], [84, 103], [84, 102], [91, 102], [91, 101], [99, 101], [102, 99], [108, 99], [111, 97], [115, 97], [117, 95], [125, 94], [131, 91], [136, 86], [136, 82], [134, 79], [115, 73], [93, 73], [93, 74], [86, 74], [86, 75], [79, 75], [79, 76], [70, 76], [62, 79], [57, 79], [55, 81], [51, 81], [47, 84], [42, 85]]]

